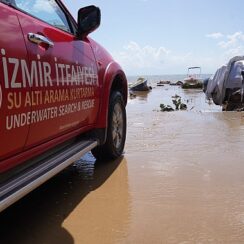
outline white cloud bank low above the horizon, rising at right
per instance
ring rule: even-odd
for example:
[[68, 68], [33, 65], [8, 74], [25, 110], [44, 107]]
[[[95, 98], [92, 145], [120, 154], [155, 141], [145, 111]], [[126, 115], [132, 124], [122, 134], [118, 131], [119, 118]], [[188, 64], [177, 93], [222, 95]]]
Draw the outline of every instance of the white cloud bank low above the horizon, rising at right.
[[206, 36], [215, 40], [209, 47], [211, 51], [206, 53], [179, 53], [164, 46], [142, 46], [130, 41], [121, 51], [112, 54], [129, 75], [184, 74], [190, 66], [201, 66], [203, 73], [214, 73], [232, 57], [244, 55], [244, 33], [241, 31], [228, 35], [216, 32]]

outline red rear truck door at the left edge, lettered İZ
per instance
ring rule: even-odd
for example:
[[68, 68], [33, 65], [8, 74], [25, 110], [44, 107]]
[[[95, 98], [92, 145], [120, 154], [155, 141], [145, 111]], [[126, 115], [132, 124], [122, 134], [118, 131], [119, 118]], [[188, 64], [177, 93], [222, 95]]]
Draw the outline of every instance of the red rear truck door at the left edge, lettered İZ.
[[21, 64], [27, 50], [16, 11], [0, 2], [0, 160], [23, 150], [29, 130], [30, 88], [23, 83]]

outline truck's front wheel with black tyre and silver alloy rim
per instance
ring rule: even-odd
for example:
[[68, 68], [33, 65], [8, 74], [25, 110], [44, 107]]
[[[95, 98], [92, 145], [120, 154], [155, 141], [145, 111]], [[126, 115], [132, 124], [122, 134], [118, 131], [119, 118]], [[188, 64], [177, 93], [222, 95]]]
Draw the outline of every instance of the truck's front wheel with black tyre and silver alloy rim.
[[107, 139], [104, 145], [92, 150], [98, 160], [118, 158], [124, 151], [126, 138], [126, 111], [120, 92], [113, 92], [109, 101]]

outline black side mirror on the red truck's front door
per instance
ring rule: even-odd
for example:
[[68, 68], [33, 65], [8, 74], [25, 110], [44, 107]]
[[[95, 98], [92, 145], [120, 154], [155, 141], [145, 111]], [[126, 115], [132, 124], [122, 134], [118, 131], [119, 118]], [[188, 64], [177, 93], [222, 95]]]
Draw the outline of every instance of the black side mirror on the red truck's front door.
[[78, 11], [78, 37], [84, 38], [96, 30], [101, 23], [101, 11], [96, 6], [87, 6]]

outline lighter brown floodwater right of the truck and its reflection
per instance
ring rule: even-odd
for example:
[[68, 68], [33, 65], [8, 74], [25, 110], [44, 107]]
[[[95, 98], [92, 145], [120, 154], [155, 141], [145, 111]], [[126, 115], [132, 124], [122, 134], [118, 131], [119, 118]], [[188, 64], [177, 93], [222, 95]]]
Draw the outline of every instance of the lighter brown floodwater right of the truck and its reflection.
[[[156, 110], [174, 94], [194, 109]], [[243, 113], [176, 87], [153, 90], [127, 112], [132, 224], [124, 243], [242, 243]]]

